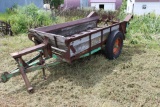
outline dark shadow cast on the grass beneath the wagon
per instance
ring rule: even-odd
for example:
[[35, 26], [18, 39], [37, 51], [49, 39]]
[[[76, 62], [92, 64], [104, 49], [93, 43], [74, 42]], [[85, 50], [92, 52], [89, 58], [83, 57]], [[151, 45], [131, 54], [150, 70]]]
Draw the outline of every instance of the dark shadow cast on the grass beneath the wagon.
[[[72, 82], [75, 86], [90, 88], [99, 83], [104, 76], [109, 76], [111, 73], [116, 72], [114, 69], [119, 64], [130, 62], [134, 54], [143, 53], [145, 53], [145, 51], [140, 49], [140, 47], [124, 46], [119, 58], [115, 60], [108, 60], [100, 51], [91, 57], [78, 59], [72, 64], [61, 63], [51, 67], [48, 70], [50, 75], [46, 81], [36, 81], [32, 83], [35, 78], [38, 78], [36, 75], [31, 79], [31, 84], [35, 87], [36, 90], [38, 90], [43, 89], [44, 87], [59, 80], [60, 78], [63, 78], [68, 82]], [[39, 72], [37, 72], [37, 74], [38, 73]], [[25, 86], [16, 90], [16, 92], [19, 93], [21, 91], [25, 91], [24, 87]]]

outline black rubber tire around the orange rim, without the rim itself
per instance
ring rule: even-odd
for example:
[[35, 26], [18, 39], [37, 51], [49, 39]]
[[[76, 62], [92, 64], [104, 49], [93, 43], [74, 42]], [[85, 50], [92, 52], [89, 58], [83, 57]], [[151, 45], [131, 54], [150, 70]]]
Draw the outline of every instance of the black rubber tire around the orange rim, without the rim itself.
[[[121, 39], [121, 46], [120, 46], [119, 52], [115, 55], [113, 53], [113, 47], [114, 47], [114, 44], [115, 44], [115, 41], [117, 38]], [[119, 55], [121, 54], [122, 47], [123, 47], [123, 33], [118, 30], [112, 31], [112, 33], [108, 36], [107, 42], [105, 45], [105, 50], [104, 50], [105, 56], [109, 60], [113, 60], [113, 59], [118, 58]]]

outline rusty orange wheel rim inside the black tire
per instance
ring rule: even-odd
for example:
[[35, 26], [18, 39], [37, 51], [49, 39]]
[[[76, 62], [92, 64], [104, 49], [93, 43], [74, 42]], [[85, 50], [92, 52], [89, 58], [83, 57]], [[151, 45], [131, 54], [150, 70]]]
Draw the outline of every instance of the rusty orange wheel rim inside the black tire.
[[116, 55], [119, 53], [120, 49], [121, 49], [121, 45], [122, 45], [122, 40], [120, 38], [117, 38], [114, 46], [113, 46], [113, 54]]

